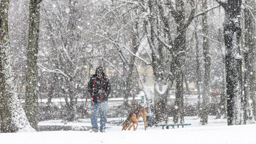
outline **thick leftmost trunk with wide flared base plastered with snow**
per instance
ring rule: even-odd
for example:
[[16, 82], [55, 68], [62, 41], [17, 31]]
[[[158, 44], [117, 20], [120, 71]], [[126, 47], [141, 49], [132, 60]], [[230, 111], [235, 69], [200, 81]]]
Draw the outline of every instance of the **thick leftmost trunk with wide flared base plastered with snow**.
[[7, 24], [9, 3], [9, 0], [0, 0], [0, 131], [35, 131], [28, 122], [18, 96]]

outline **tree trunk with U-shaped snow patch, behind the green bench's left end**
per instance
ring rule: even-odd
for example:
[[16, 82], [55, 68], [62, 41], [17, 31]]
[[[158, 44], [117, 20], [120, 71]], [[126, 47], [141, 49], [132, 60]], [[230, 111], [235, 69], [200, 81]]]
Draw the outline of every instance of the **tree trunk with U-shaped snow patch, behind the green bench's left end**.
[[[166, 61], [165, 49], [162, 44], [157, 41], [158, 32], [158, 16], [157, 16], [157, 7], [148, 1], [149, 9], [151, 16], [150, 21], [150, 36], [147, 33], [147, 40], [149, 42], [151, 51], [152, 51], [152, 68], [153, 68], [153, 77], [154, 77], [154, 106], [155, 106], [155, 121], [156, 123], [165, 121], [167, 123], [167, 96], [168, 96], [168, 85], [166, 77]], [[147, 25], [147, 24], [146, 24]], [[147, 26], [146, 26], [147, 27]], [[147, 30], [146, 30], [147, 32]]]

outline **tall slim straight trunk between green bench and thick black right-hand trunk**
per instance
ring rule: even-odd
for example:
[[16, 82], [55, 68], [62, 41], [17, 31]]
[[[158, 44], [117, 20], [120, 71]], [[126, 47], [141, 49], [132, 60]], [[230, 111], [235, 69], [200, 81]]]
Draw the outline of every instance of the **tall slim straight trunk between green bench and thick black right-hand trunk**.
[[[207, 9], [207, 1], [203, 1], [203, 9]], [[202, 26], [203, 26], [203, 52], [204, 52], [204, 85], [203, 85], [203, 97], [202, 97], [202, 112], [200, 123], [202, 125], [207, 124], [208, 122], [208, 109], [209, 109], [209, 90], [210, 90], [210, 73], [211, 73], [211, 57], [209, 55], [209, 45], [208, 38], [205, 36], [208, 35], [208, 25], [207, 25], [207, 14], [204, 13], [202, 17]]]

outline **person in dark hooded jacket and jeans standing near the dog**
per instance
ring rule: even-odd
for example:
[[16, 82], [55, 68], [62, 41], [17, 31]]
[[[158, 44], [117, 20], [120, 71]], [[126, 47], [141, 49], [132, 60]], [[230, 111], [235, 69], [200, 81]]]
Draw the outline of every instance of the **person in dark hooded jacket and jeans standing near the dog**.
[[91, 97], [91, 132], [98, 132], [97, 108], [99, 108], [100, 112], [100, 132], [105, 132], [108, 96], [110, 91], [111, 85], [109, 83], [109, 77], [105, 74], [103, 67], [98, 66], [95, 74], [93, 74], [88, 81], [88, 92]]

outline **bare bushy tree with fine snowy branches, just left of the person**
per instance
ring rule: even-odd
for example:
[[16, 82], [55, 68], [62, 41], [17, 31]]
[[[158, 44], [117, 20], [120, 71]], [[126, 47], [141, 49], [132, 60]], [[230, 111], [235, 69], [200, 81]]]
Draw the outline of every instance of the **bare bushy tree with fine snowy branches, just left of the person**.
[[[58, 72], [61, 74], [62, 92], [66, 100], [68, 110], [68, 121], [76, 119], [76, 105], [78, 96], [86, 84], [85, 69], [86, 63], [90, 61], [91, 47], [86, 45], [85, 33], [82, 25], [87, 21], [84, 5], [89, 1], [45, 1], [42, 10], [46, 30], [46, 39], [52, 49], [49, 61], [53, 63], [51, 68], [40, 66], [48, 72]], [[87, 7], [89, 9], [89, 7]], [[85, 25], [84, 29], [87, 25]], [[44, 27], [44, 28], [45, 28]], [[47, 46], [47, 44], [46, 44]], [[48, 66], [49, 67], [49, 66]]]

